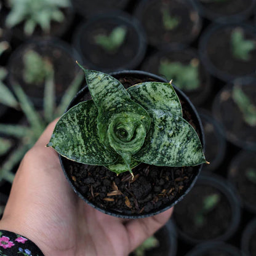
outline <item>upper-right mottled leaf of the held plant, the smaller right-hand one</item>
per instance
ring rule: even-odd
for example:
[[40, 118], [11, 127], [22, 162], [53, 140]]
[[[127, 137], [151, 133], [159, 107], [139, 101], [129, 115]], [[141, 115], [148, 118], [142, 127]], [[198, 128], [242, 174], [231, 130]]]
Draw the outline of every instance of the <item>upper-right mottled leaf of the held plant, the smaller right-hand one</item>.
[[166, 110], [182, 116], [182, 106], [174, 87], [168, 82], [142, 82], [127, 89], [132, 100], [145, 110]]

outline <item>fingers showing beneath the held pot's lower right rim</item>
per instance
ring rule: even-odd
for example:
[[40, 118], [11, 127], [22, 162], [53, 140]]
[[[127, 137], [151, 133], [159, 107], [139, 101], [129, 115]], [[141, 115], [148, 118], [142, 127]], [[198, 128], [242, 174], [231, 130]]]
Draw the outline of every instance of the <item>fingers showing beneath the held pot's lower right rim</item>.
[[130, 220], [125, 223], [124, 225], [130, 238], [131, 251], [161, 228], [169, 220], [172, 211], [173, 207], [153, 217]]

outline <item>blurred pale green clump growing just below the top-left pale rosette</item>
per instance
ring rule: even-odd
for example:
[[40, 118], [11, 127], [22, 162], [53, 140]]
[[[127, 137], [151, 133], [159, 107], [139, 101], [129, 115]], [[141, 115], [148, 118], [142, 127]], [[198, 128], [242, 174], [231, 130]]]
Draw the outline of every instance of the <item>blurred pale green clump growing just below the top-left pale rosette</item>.
[[25, 65], [23, 78], [28, 84], [39, 85], [53, 72], [52, 63], [33, 50], [28, 50], [23, 57]]

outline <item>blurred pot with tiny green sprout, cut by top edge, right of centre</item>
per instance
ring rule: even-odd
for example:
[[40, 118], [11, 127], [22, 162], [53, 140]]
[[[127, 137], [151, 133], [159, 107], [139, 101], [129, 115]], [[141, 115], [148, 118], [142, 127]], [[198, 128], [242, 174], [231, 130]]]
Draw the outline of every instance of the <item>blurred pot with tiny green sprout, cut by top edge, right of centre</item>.
[[191, 1], [141, 1], [135, 16], [142, 22], [152, 46], [189, 44], [201, 30], [201, 19]]

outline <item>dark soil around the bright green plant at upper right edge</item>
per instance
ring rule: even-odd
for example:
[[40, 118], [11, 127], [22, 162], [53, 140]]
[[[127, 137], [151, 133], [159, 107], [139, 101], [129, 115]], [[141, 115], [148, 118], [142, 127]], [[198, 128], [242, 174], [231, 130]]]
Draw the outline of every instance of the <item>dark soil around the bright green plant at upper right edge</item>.
[[[233, 2], [233, 1], [232, 1]], [[235, 58], [232, 53], [231, 47], [231, 33], [239, 27], [225, 26], [221, 29], [214, 31], [207, 38], [207, 56], [210, 62], [223, 73], [239, 77], [250, 74], [255, 74], [256, 70], [256, 50], [250, 52], [250, 60], [240, 60]], [[244, 30], [244, 37], [246, 39], [256, 39], [255, 34], [250, 31]]]

